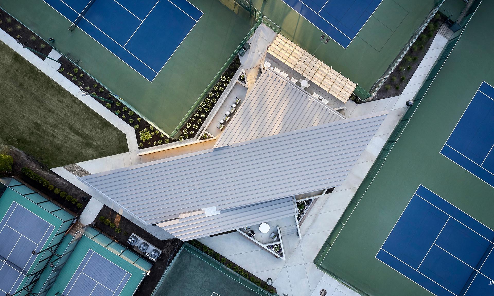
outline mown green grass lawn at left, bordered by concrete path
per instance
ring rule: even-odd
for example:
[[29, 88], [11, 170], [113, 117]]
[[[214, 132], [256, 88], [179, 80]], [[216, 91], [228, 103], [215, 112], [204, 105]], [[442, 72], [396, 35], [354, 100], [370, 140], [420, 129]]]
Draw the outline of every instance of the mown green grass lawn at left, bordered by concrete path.
[[2, 42], [0, 144], [47, 168], [127, 151], [124, 133]]

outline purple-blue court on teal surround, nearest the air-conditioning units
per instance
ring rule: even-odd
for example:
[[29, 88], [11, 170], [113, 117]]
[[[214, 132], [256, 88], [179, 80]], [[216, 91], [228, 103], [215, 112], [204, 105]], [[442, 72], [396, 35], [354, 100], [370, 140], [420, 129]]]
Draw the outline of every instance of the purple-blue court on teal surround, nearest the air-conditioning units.
[[64, 296], [118, 296], [131, 274], [89, 249], [67, 284]]

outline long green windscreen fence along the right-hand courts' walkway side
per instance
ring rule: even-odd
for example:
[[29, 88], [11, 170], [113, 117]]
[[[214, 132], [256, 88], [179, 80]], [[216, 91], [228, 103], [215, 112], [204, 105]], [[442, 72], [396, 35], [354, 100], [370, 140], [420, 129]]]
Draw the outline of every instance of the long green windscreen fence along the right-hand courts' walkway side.
[[338, 220], [338, 222], [334, 226], [333, 230], [329, 234], [328, 239], [326, 240], [323, 247], [321, 248], [321, 250], [317, 254], [316, 258], [314, 259], [314, 263], [316, 264], [317, 268], [319, 268], [320, 270], [329, 274], [330, 276], [332, 276], [333, 278], [338, 280], [340, 283], [350, 287], [351, 289], [353, 289], [354, 291], [358, 292], [361, 295], [369, 296], [365, 292], [363, 292], [363, 291], [359, 290], [358, 288], [353, 287], [351, 284], [345, 282], [345, 280], [343, 280], [342, 278], [340, 278], [338, 275], [334, 274], [330, 270], [327, 270], [321, 264], [324, 261], [326, 255], [329, 253], [329, 250], [331, 249], [332, 244], [334, 243], [334, 241], [338, 237], [340, 231], [343, 229], [343, 226], [345, 225], [345, 223], [350, 218], [350, 215], [352, 214], [353, 210], [359, 204], [360, 200], [364, 196], [364, 193], [366, 192], [366, 190], [371, 185], [372, 180], [375, 178], [375, 176], [377, 175], [377, 172], [379, 171], [379, 169], [384, 164], [384, 161], [386, 160], [389, 152], [391, 151], [391, 149], [393, 148], [395, 143], [400, 138], [400, 135], [403, 133], [403, 131], [404, 131], [405, 127], [407, 126], [407, 123], [409, 122], [410, 118], [412, 118], [413, 112], [415, 112], [415, 110], [417, 109], [420, 101], [422, 100], [425, 93], [427, 92], [427, 89], [431, 85], [431, 83], [434, 80], [434, 78], [436, 77], [436, 75], [439, 73], [439, 70], [441, 69], [443, 64], [446, 62], [448, 56], [450, 55], [450, 53], [453, 50], [454, 45], [456, 44], [456, 42], [458, 42], [458, 39], [461, 36], [461, 31], [463, 31], [463, 29], [456, 32], [452, 36], [452, 38], [448, 41], [448, 43], [446, 44], [446, 46], [443, 50], [443, 53], [441, 54], [439, 60], [436, 62], [434, 67], [431, 69], [431, 72], [427, 76], [427, 79], [425, 80], [424, 84], [421, 86], [421, 88], [418, 90], [417, 94], [415, 95], [415, 98], [413, 100], [414, 104], [407, 110], [407, 112], [405, 112], [405, 114], [401, 118], [400, 122], [398, 122], [397, 126], [395, 127], [395, 129], [391, 133], [388, 141], [386, 142], [386, 144], [382, 148], [381, 152], [377, 156], [377, 159], [375, 160], [371, 169], [369, 170], [369, 173], [364, 178], [364, 180], [362, 181], [362, 184], [359, 186], [359, 188], [355, 192], [355, 195], [353, 196], [352, 200], [350, 201], [350, 204], [345, 209], [345, 212], [343, 213], [341, 218]]

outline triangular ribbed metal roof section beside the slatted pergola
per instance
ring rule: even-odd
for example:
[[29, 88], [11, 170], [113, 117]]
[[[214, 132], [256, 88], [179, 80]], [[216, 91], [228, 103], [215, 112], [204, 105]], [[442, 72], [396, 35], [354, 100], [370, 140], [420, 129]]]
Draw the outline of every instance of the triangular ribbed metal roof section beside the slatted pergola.
[[291, 81], [266, 69], [215, 147], [345, 119]]

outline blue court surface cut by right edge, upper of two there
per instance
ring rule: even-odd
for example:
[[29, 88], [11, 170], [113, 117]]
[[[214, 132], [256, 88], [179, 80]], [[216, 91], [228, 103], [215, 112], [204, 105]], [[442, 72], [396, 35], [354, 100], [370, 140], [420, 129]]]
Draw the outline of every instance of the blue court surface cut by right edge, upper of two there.
[[441, 154], [494, 187], [494, 88], [482, 82]]

